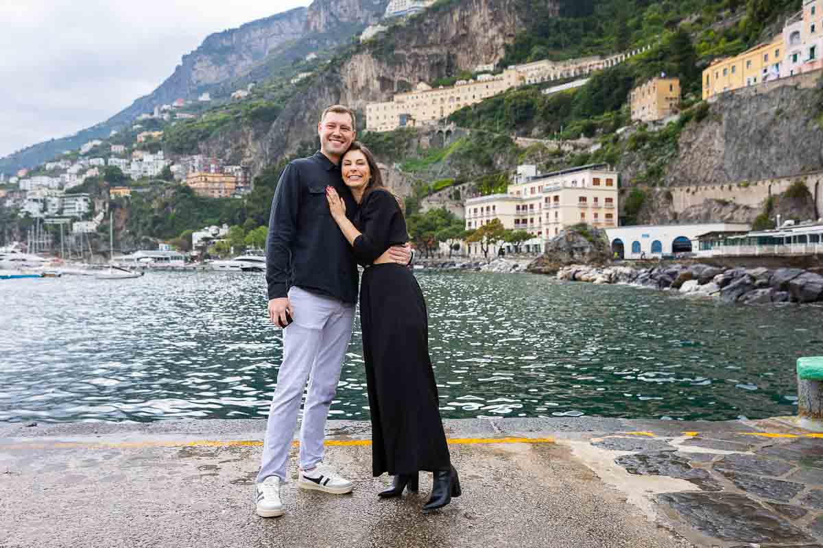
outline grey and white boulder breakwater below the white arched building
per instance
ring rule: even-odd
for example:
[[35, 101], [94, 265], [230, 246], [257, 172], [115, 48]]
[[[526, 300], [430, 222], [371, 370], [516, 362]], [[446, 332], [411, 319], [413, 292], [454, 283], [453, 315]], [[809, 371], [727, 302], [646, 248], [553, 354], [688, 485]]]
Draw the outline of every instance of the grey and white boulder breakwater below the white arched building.
[[721, 302], [744, 304], [823, 302], [823, 276], [802, 269], [723, 269], [710, 265], [565, 266], [557, 279], [590, 283], [630, 283], [667, 289]]

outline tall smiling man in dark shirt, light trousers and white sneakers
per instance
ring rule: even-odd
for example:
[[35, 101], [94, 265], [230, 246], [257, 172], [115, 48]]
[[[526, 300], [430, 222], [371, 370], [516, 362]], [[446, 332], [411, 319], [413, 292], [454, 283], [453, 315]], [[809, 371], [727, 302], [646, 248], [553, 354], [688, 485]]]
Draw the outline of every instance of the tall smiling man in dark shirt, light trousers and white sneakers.
[[[326, 417], [351, 339], [357, 300], [357, 265], [351, 246], [329, 214], [326, 187], [337, 190], [346, 201], [346, 213], [353, 216], [357, 205], [342, 181], [339, 163], [355, 139], [354, 113], [342, 105], [327, 108], [318, 134], [320, 150], [294, 160], [283, 171], [269, 218], [268, 315], [284, 329], [283, 360], [256, 481], [257, 513], [263, 518], [283, 514], [280, 488], [286, 481], [291, 437], [309, 378], [297, 486], [337, 495], [353, 487], [321, 464]], [[387, 257], [405, 265], [410, 252], [392, 248], [384, 254]]]

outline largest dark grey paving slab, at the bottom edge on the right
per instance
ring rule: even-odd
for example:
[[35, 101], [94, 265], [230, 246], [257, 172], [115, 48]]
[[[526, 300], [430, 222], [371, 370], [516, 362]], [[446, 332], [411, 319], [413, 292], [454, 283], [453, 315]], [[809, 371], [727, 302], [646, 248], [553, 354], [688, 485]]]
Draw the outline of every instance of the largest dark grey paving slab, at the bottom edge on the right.
[[737, 493], [663, 493], [655, 499], [675, 509], [691, 527], [720, 541], [781, 546], [816, 542], [776, 513]]

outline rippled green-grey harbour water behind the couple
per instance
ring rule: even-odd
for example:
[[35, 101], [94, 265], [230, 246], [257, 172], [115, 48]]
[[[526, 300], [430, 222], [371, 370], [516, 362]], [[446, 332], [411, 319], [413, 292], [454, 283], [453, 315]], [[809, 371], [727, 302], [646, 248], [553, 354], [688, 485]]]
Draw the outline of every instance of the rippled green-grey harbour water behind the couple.
[[[823, 309], [719, 306], [532, 275], [419, 274], [444, 417], [795, 412]], [[263, 276], [0, 282], [0, 421], [265, 417], [281, 357]], [[359, 321], [332, 418], [369, 417]]]

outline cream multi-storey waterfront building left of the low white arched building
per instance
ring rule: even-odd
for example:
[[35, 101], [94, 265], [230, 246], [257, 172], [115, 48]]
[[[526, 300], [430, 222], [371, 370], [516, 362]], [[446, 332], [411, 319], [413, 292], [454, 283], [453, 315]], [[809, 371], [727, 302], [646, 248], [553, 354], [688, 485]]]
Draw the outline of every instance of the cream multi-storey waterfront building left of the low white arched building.
[[[522, 170], [530, 167], [533, 175]], [[542, 252], [548, 240], [574, 224], [614, 228], [617, 226], [617, 177], [618, 173], [605, 163], [546, 175], [538, 175], [533, 166], [520, 166], [516, 182], [509, 185], [505, 194], [466, 200], [466, 229], [475, 230], [493, 219], [500, 219], [504, 228], [532, 234], [533, 239], [525, 242], [524, 251]], [[501, 243], [494, 252], [501, 246], [506, 248], [506, 244]], [[470, 255], [482, 255], [479, 244], [469, 244], [468, 249]], [[507, 251], [511, 251], [510, 246]]]

